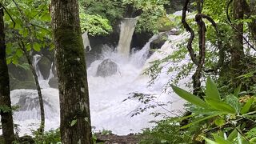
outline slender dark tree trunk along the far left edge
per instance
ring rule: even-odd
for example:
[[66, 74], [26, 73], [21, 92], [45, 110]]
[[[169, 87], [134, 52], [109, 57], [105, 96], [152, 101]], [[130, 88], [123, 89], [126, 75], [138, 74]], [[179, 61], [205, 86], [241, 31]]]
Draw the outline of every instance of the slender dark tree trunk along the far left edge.
[[10, 103], [10, 78], [6, 64], [6, 44], [3, 22], [3, 8], [0, 5], [0, 106], [2, 134], [6, 144], [14, 141], [14, 122]]

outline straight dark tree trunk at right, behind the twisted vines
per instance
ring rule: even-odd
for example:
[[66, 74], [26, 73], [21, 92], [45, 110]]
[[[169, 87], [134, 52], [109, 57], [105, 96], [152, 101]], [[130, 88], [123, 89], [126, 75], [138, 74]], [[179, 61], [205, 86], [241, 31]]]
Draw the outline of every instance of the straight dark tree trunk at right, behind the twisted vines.
[[[234, 20], [243, 19], [243, 5], [242, 0], [234, 0]], [[234, 74], [238, 76], [242, 70], [242, 58], [245, 54], [243, 51], [243, 23], [239, 22], [234, 24], [234, 38], [233, 47], [231, 50], [231, 68], [234, 70]], [[237, 75], [238, 74], [238, 75]]]

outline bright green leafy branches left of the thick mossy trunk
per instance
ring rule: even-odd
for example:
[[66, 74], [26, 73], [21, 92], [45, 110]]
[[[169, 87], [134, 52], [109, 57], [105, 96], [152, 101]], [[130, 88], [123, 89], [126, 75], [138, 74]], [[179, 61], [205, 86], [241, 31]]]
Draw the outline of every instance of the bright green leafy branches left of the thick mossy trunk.
[[[16, 2], [16, 3], [14, 3]], [[49, 1], [4, 1], [4, 21], [6, 24], [7, 62], [20, 64], [23, 50], [39, 51], [42, 47], [52, 46], [50, 43], [50, 12]]]

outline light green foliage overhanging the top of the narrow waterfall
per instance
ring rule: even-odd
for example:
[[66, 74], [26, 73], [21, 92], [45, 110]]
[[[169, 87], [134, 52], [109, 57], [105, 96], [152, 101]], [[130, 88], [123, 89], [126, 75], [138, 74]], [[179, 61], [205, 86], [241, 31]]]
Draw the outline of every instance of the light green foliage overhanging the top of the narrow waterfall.
[[[148, 31], [157, 33], [160, 27], [170, 26], [170, 20], [166, 18], [166, 10], [164, 5], [169, 4], [167, 0], [89, 0], [80, 1], [82, 9], [85, 12], [84, 24], [89, 22], [88, 27], [91, 32], [89, 34], [108, 34], [111, 32], [110, 25], [114, 26], [119, 19], [126, 16], [126, 13], [138, 13], [137, 32]], [[130, 11], [131, 10], [131, 11]], [[81, 10], [80, 10], [81, 11]], [[136, 15], [136, 14], [135, 14]], [[162, 18], [166, 18], [164, 21]], [[103, 22], [104, 20], [104, 22]], [[102, 21], [98, 25], [98, 22]], [[83, 25], [83, 24], [82, 24]], [[99, 32], [98, 32], [99, 31]]]

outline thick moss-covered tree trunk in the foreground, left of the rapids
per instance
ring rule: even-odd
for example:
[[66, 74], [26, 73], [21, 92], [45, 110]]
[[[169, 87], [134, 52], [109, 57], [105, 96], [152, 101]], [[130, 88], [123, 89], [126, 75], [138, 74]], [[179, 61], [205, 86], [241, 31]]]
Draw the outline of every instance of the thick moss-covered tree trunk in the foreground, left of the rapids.
[[77, 0], [51, 0], [62, 143], [90, 144], [90, 105]]

